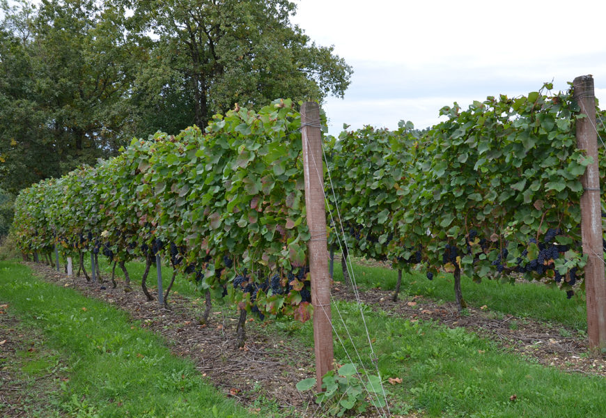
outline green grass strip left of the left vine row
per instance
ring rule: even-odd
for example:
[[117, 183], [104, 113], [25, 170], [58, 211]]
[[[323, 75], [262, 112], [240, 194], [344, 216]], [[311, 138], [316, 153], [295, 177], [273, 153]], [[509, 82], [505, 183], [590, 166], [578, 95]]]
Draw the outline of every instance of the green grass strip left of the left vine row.
[[[11, 314], [43, 331], [69, 364], [56, 408], [73, 417], [246, 417], [162, 339], [127, 315], [0, 262], [0, 297]], [[45, 364], [33, 364], [44, 369]], [[35, 372], [35, 370], [31, 372]]]

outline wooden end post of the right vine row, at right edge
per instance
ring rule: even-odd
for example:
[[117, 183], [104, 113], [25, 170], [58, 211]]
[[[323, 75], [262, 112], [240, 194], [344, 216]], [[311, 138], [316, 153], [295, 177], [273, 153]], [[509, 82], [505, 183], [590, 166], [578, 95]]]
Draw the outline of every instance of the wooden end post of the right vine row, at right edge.
[[593, 77], [582, 75], [575, 78], [573, 91], [581, 113], [586, 115], [586, 118], [578, 118], [576, 122], [577, 148], [586, 150], [586, 155], [593, 158], [593, 164], [587, 166], [581, 178], [584, 189], [581, 196], [581, 237], [583, 253], [588, 255], [585, 265], [585, 291], [589, 348], [600, 350], [606, 348], [606, 279]]

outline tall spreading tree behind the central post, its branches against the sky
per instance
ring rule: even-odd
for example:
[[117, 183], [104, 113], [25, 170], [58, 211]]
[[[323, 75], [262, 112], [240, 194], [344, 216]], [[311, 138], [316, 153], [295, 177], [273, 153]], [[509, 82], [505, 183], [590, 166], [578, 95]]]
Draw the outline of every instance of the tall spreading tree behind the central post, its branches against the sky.
[[[169, 111], [185, 125], [275, 98], [342, 97], [352, 69], [333, 47], [311, 42], [290, 24], [287, 0], [127, 2], [132, 30], [153, 45], [137, 80], [140, 103]], [[179, 116], [180, 115], [180, 116]], [[185, 127], [181, 125], [179, 128]]]

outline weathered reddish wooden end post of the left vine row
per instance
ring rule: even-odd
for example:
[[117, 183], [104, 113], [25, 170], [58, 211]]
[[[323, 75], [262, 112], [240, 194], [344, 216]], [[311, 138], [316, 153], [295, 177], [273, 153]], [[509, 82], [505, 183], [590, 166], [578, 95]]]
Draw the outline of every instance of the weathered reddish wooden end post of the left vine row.
[[330, 277], [326, 213], [324, 204], [324, 164], [320, 106], [304, 102], [301, 107], [305, 207], [309, 239], [309, 271], [311, 272], [311, 303], [313, 304], [313, 343], [316, 353], [316, 384], [322, 392], [322, 377], [332, 369], [332, 315], [330, 311]]

